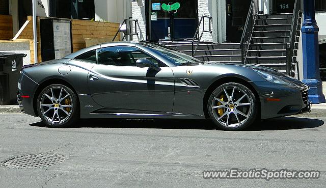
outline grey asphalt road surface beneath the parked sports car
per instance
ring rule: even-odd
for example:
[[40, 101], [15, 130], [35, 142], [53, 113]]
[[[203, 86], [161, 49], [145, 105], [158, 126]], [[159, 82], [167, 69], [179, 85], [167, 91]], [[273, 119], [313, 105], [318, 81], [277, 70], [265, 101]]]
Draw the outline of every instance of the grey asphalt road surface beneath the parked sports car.
[[[0, 161], [57, 153], [38, 169], [0, 166], [0, 187], [326, 187], [326, 113], [266, 120], [244, 131], [194, 120], [84, 120], [46, 128], [0, 114]], [[203, 179], [203, 170], [319, 170], [320, 179]]]

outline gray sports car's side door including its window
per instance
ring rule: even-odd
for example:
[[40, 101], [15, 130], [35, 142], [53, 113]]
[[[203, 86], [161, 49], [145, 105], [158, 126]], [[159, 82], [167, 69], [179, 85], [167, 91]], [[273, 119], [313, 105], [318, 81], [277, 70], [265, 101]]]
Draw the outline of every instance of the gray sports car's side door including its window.
[[[135, 66], [146, 58], [160, 71]], [[93, 100], [108, 109], [172, 112], [174, 76], [170, 67], [137, 47], [112, 46], [97, 50], [98, 63], [89, 73]], [[123, 111], [125, 112], [125, 111]]]

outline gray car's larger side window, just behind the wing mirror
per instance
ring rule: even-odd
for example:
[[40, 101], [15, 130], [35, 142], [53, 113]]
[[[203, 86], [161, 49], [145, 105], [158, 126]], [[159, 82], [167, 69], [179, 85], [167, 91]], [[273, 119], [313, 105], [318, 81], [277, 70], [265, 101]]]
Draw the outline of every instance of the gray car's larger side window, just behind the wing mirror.
[[98, 49], [98, 63], [102, 65], [136, 66], [138, 59], [148, 59], [158, 65], [158, 61], [142, 50], [131, 46], [114, 46]]

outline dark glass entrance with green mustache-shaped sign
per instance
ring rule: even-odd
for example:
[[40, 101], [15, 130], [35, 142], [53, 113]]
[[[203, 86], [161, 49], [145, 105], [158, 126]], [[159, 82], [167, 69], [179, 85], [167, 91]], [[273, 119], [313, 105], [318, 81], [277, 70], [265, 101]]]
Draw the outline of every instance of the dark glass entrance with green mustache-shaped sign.
[[198, 26], [198, 0], [148, 0], [149, 40], [192, 39]]

